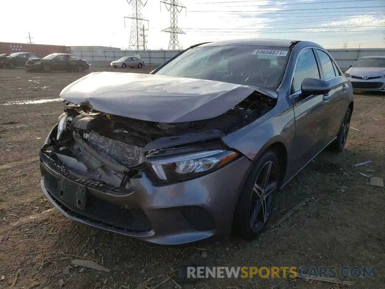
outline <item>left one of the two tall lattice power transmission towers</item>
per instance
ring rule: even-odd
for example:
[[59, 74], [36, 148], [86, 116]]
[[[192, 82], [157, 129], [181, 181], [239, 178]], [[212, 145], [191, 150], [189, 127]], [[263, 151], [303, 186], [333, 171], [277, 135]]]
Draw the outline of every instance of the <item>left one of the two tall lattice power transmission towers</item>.
[[[147, 49], [147, 44], [144, 41], [144, 33], [142, 34], [142, 21], [148, 20], [142, 18], [142, 7], [146, 6], [146, 3], [143, 4], [142, 0], [126, 0], [127, 3], [132, 5], [132, 16], [124, 17], [124, 27], [126, 27], [126, 18], [132, 19], [131, 33], [130, 33], [130, 42], [128, 49], [139, 50], [139, 47], [143, 50]], [[147, 29], [148, 30], [148, 29]]]

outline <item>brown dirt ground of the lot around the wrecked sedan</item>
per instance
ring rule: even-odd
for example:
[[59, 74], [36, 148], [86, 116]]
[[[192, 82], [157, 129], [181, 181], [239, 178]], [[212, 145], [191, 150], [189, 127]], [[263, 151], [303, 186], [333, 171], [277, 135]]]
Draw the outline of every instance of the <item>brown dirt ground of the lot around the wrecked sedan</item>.
[[[351, 280], [356, 282], [352, 288], [383, 287], [385, 190], [370, 186], [360, 173], [375, 170], [370, 174], [385, 177], [384, 95], [355, 96], [343, 153], [321, 153], [285, 187], [259, 239], [244, 242], [228, 237], [199, 246], [160, 247], [72, 222], [52, 209], [40, 189], [39, 148], [63, 108], [61, 102], [44, 100], [59, 97], [67, 84], [92, 71], [95, 68], [84, 73], [27, 74], [23, 69], [0, 69], [0, 287], [327, 289], [333, 285], [260, 277], [182, 282], [175, 277], [178, 268], [191, 263], [375, 266], [376, 278]], [[354, 166], [369, 160], [368, 165]], [[283, 226], [272, 227], [305, 198], [311, 198], [308, 205]], [[71, 265], [72, 259], [92, 259], [111, 271], [84, 270]]]

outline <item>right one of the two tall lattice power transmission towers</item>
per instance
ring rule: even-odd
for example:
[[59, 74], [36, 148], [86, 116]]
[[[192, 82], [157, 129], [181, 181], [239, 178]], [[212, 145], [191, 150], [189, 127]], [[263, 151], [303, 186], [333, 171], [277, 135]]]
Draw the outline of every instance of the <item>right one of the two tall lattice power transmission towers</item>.
[[170, 11], [170, 26], [162, 30], [163, 32], [170, 33], [168, 49], [179, 50], [178, 34], [185, 33], [178, 27], [178, 13], [181, 13], [182, 9], [186, 9], [186, 7], [184, 7], [178, 0], [164, 0], [161, 1], [161, 5], [162, 3], [166, 6], [167, 11]]

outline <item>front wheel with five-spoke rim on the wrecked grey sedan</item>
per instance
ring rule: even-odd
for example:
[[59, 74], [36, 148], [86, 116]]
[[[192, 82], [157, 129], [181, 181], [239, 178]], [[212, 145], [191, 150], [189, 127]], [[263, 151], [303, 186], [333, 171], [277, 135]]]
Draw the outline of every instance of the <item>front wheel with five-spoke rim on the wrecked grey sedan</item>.
[[[261, 190], [268, 171], [267, 186]], [[236, 235], [244, 240], [254, 240], [263, 232], [280, 188], [280, 180], [280, 166], [276, 154], [270, 150], [265, 151], [254, 164], [239, 195], [233, 220]], [[266, 188], [269, 189], [266, 191]], [[261, 197], [264, 201], [261, 201]]]

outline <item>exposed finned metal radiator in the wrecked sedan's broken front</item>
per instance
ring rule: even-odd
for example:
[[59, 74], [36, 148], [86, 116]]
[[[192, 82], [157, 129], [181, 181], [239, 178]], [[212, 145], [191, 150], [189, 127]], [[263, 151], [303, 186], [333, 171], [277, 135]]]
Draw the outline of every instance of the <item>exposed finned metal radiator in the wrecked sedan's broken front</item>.
[[91, 132], [88, 144], [96, 151], [105, 153], [110, 158], [124, 166], [135, 166], [139, 163], [143, 148], [106, 138], [101, 134]]

